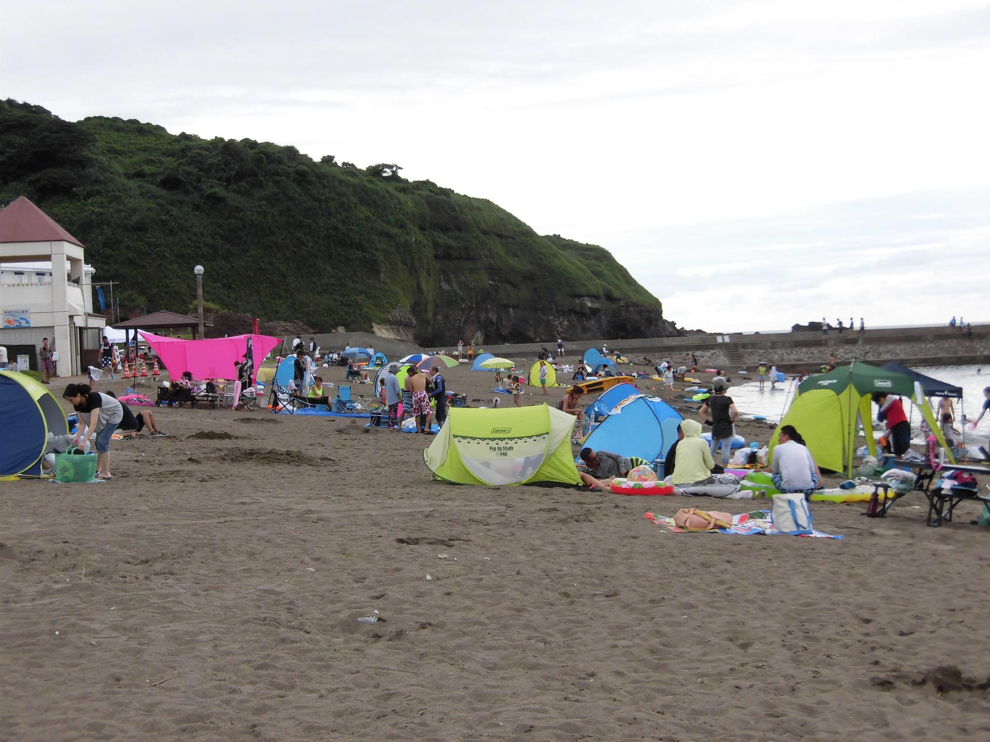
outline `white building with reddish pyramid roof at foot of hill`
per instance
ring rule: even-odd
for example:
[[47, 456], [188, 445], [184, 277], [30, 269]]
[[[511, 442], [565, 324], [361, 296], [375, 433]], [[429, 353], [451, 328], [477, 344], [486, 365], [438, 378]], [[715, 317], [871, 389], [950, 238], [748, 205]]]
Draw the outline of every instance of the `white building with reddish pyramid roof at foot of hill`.
[[[0, 345], [11, 367], [39, 370], [38, 349], [49, 338], [60, 376], [83, 373], [105, 319], [93, 314], [92, 267], [82, 242], [24, 196], [0, 210]], [[98, 363], [96, 365], [99, 365]]]

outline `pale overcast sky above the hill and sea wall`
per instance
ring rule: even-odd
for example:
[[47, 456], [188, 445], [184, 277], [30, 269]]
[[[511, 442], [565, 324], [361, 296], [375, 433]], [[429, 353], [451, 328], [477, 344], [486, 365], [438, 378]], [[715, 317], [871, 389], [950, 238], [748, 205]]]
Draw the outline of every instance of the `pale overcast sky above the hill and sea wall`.
[[396, 162], [679, 325], [990, 321], [986, 0], [0, 7], [4, 97]]

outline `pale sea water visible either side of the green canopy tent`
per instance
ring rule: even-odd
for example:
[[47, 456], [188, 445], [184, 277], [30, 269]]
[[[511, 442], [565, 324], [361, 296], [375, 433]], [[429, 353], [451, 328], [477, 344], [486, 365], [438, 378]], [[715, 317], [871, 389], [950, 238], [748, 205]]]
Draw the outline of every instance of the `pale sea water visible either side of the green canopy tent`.
[[[948, 384], [962, 387], [962, 401], [955, 403], [955, 427], [962, 430], [962, 415], [965, 413], [970, 420], [979, 417], [983, 407], [983, 389], [990, 386], [990, 366], [982, 368], [979, 366], [918, 366], [916, 371], [939, 379]], [[734, 382], [738, 381], [734, 377]], [[736, 402], [736, 408], [741, 416], [762, 415], [768, 420], [778, 421], [786, 412], [787, 407], [794, 399], [797, 389], [797, 380], [788, 378], [786, 382], [778, 383], [776, 389], [771, 390], [769, 383], [760, 391], [758, 382], [736, 383], [729, 390], [729, 396]], [[936, 401], [938, 404], [938, 401]], [[875, 412], [875, 410], [874, 410]], [[908, 412], [905, 410], [905, 412]], [[914, 427], [918, 427], [920, 415], [915, 411], [912, 416]], [[980, 442], [985, 444], [990, 438], [990, 412], [988, 412], [976, 429], [976, 432], [966, 429], [966, 441]], [[975, 439], [975, 440], [974, 440]]]

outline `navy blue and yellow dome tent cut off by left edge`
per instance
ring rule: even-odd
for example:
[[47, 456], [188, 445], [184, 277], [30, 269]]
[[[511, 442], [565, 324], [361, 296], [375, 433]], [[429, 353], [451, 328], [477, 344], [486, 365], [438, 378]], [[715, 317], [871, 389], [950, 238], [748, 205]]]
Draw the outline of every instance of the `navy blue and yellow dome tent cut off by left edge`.
[[58, 400], [30, 376], [0, 371], [0, 477], [40, 476], [49, 432], [68, 433]]

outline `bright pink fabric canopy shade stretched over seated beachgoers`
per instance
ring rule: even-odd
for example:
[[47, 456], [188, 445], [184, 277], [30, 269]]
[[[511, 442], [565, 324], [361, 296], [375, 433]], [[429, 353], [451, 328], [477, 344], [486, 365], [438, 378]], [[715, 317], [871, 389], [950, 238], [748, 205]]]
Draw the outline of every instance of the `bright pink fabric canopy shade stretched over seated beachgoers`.
[[257, 368], [264, 356], [279, 344], [279, 337], [270, 335], [234, 335], [233, 337], [210, 337], [205, 340], [180, 340], [176, 337], [162, 337], [141, 330], [172, 379], [178, 379], [189, 371], [194, 379], [238, 378], [235, 364], [244, 360], [247, 352], [247, 338], [251, 338], [254, 356], [254, 372], [251, 383], [256, 381]]

